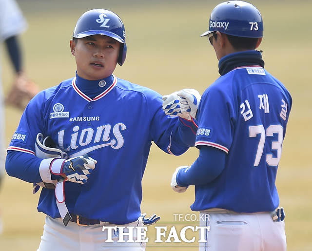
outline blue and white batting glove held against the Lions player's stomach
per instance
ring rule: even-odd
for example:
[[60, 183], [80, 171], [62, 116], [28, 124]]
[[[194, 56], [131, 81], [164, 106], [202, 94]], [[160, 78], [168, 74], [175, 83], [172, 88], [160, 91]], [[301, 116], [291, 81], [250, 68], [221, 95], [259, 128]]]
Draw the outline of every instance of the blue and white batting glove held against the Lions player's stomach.
[[95, 168], [95, 164], [97, 164], [95, 159], [89, 157], [88, 154], [84, 154], [83, 156], [73, 157], [63, 161], [60, 173], [53, 172], [54, 169], [58, 170], [56, 165], [60, 160], [62, 159], [56, 159], [52, 162], [50, 172], [59, 175], [65, 174], [68, 181], [80, 184], [87, 182], [89, 175]]

